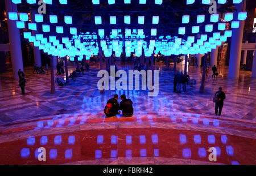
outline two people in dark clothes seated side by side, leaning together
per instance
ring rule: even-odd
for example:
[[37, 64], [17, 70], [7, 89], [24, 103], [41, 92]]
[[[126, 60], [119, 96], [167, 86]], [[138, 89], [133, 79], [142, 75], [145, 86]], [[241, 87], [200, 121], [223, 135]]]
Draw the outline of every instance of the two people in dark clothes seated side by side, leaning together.
[[120, 114], [120, 110], [125, 117], [132, 117], [133, 116], [133, 101], [129, 98], [126, 98], [125, 95], [121, 95], [121, 102], [118, 103], [118, 95], [114, 95], [114, 98], [108, 100], [104, 113], [106, 117], [113, 117], [117, 114]]

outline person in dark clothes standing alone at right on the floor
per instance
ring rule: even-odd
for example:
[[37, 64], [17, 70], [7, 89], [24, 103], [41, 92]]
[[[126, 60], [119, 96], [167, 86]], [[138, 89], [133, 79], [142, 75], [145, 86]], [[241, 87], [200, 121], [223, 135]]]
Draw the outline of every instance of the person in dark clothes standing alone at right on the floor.
[[215, 102], [215, 114], [218, 116], [221, 115], [221, 111], [222, 111], [225, 99], [226, 99], [226, 95], [222, 91], [222, 87], [219, 87], [218, 91], [215, 93], [213, 98], [213, 102]]

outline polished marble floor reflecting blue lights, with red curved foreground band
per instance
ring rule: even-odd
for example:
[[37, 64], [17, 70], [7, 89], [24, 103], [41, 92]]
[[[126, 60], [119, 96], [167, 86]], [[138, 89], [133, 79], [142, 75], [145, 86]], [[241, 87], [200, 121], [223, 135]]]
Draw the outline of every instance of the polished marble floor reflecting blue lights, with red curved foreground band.
[[[156, 97], [148, 91], [101, 94], [97, 65], [71, 85], [55, 85], [55, 95], [49, 93], [48, 72], [25, 68], [24, 96], [11, 72], [1, 73], [0, 164], [256, 164], [256, 79], [250, 72], [229, 80], [228, 67], [218, 68], [217, 79], [209, 71], [200, 94], [201, 68], [189, 67], [196, 85], [182, 93], [173, 92], [169, 69], [162, 63], [155, 69], [160, 70]], [[226, 100], [216, 117], [212, 97], [220, 86]], [[115, 93], [133, 100], [133, 117], [105, 118], [106, 101]], [[46, 161], [38, 161], [40, 147], [46, 148]], [[209, 161], [210, 147], [217, 149], [217, 161]]]

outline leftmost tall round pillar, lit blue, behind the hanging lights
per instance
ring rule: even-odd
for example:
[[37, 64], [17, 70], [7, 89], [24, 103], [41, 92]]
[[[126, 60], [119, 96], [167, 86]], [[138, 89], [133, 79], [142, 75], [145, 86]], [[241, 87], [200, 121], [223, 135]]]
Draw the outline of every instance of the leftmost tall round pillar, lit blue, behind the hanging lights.
[[[5, 0], [6, 12], [17, 12], [17, 5], [10, 0]], [[11, 65], [13, 67], [14, 79], [19, 79], [18, 70], [23, 71], [22, 49], [20, 44], [19, 29], [16, 28], [16, 21], [7, 20], [10, 51], [11, 51]]]

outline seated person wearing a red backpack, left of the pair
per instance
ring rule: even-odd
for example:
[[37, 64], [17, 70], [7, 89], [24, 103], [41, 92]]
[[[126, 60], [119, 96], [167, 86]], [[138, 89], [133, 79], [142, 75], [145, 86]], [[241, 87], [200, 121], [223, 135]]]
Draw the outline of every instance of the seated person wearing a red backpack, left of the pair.
[[106, 117], [113, 117], [118, 114], [118, 110], [118, 95], [115, 94], [113, 98], [108, 100], [104, 109], [104, 113], [106, 114]]

